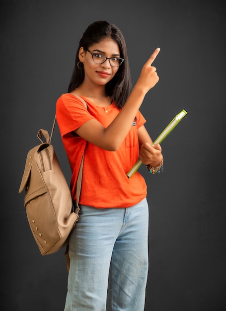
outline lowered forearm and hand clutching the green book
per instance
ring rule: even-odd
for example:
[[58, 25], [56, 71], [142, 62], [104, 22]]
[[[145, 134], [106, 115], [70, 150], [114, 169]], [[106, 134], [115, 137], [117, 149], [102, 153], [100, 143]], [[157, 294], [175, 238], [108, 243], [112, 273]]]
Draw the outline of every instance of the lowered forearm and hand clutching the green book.
[[153, 145], [151, 137], [144, 125], [138, 129], [138, 140], [140, 159], [144, 164], [150, 164], [152, 167], [156, 167], [163, 159], [161, 146], [159, 144]]

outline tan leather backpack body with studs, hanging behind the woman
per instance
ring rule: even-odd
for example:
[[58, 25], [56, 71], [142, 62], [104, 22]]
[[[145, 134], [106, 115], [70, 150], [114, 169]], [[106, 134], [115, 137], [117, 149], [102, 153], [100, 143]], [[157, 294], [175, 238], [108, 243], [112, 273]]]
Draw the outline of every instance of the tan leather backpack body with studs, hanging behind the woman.
[[52, 145], [43, 143], [29, 151], [19, 193], [23, 189], [27, 219], [41, 254], [67, 245], [78, 212], [72, 211], [71, 191]]

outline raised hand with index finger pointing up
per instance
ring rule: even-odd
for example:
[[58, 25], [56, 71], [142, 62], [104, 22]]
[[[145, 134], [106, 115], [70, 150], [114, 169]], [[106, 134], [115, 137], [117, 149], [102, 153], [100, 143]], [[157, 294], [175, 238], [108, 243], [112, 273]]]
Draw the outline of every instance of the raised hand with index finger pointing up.
[[136, 88], [139, 88], [144, 94], [148, 93], [148, 91], [158, 82], [159, 77], [156, 73], [156, 68], [151, 66], [156, 56], [158, 55], [160, 49], [157, 48], [152, 53], [148, 62], [143, 66], [141, 71], [141, 75], [137, 80], [135, 85]]

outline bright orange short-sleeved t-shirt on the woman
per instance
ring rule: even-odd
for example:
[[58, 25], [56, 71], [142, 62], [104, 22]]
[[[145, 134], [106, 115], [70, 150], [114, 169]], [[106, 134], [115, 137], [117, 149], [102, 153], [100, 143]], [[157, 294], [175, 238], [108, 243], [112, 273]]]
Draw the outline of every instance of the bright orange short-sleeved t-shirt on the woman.
[[56, 104], [57, 122], [72, 169], [73, 200], [76, 196], [79, 165], [85, 150], [80, 204], [96, 208], [125, 208], [139, 203], [147, 195], [145, 179], [138, 171], [130, 179], [127, 173], [139, 157], [137, 129], [146, 122], [145, 118], [138, 112], [118, 150], [106, 151], [85, 141], [74, 131], [93, 118], [107, 127], [120, 110], [113, 101], [106, 113], [103, 107], [95, 106], [87, 97], [82, 98], [88, 110], [71, 93], [61, 95]]

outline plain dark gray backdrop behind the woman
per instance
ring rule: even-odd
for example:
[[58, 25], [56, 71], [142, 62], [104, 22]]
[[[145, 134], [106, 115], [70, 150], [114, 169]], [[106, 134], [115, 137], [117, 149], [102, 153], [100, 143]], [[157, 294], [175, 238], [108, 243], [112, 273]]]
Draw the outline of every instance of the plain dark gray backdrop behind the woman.
[[[156, 47], [160, 77], [141, 111], [162, 143], [164, 172], [142, 166], [150, 204], [146, 311], [226, 310], [224, 1], [1, 0], [1, 310], [62, 311], [64, 251], [41, 256], [18, 188], [26, 154], [51, 129], [88, 24], [115, 23], [127, 41], [133, 83]], [[53, 145], [70, 169], [56, 127]]]

